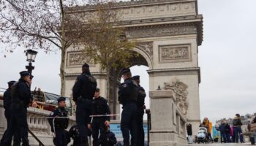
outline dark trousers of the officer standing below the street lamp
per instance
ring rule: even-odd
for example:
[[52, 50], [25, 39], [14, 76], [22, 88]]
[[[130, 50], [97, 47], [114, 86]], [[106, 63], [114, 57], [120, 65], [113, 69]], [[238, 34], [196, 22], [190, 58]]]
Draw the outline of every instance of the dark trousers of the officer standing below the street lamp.
[[27, 123], [27, 109], [23, 104], [12, 104], [10, 128], [7, 130], [6, 137], [4, 137], [4, 146], [9, 146], [12, 143], [12, 136], [15, 131], [19, 132], [22, 145], [28, 146], [28, 123]]

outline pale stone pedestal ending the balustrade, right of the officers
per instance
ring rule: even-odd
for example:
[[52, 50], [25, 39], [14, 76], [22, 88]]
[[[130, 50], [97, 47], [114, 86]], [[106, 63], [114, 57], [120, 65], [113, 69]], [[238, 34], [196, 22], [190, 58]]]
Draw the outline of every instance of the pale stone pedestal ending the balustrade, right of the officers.
[[[176, 107], [173, 91], [151, 91], [150, 146], [176, 146], [186, 143], [180, 134], [180, 121], [184, 115]], [[178, 119], [177, 119], [178, 118]], [[186, 121], [184, 121], [186, 122]]]

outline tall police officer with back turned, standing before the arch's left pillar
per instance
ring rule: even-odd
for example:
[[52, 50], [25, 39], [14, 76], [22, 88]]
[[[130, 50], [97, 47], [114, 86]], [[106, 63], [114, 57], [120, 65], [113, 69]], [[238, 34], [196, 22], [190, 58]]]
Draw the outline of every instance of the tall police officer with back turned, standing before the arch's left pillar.
[[83, 64], [82, 74], [80, 74], [75, 85], [72, 88], [73, 101], [76, 103], [75, 118], [78, 125], [78, 131], [80, 134], [80, 142], [84, 145], [89, 145], [87, 139], [88, 128], [91, 128], [91, 118], [89, 117], [92, 112], [92, 99], [97, 87], [97, 82], [94, 77], [91, 76], [89, 65]]

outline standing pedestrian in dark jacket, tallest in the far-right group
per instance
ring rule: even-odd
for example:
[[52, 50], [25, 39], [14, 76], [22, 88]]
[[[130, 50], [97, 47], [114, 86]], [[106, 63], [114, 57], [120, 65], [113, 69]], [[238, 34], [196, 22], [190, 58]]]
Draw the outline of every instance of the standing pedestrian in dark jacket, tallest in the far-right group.
[[[240, 138], [240, 134], [242, 133], [241, 126], [243, 123], [241, 122], [241, 118], [239, 114], [236, 114], [236, 117], [233, 119], [233, 126], [234, 126], [234, 137], [235, 137], [235, 142], [238, 143], [238, 139]], [[240, 142], [241, 139], [240, 139]]]

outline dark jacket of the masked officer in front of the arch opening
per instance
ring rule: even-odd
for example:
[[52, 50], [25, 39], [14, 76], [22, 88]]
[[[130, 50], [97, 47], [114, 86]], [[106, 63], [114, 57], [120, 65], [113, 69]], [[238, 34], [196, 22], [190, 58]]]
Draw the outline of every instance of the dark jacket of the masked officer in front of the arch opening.
[[124, 80], [118, 89], [118, 101], [120, 104], [136, 103], [138, 99], [138, 86], [132, 81], [132, 78]]

